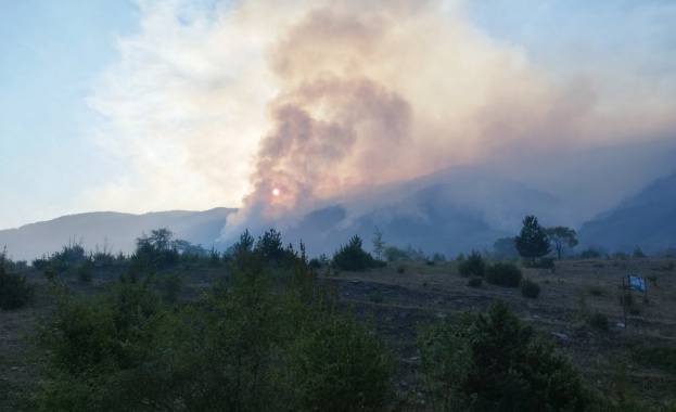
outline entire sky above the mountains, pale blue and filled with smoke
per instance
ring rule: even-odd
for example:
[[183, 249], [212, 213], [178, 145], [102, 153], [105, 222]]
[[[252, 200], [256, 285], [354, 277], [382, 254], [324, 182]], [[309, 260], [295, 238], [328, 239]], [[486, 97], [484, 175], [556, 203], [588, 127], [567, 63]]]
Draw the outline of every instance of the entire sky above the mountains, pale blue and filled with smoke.
[[[226, 206], [239, 233], [451, 165], [579, 196], [565, 154], [676, 141], [674, 21], [659, 0], [3, 1], [0, 229]], [[668, 171], [625, 170], [587, 216]]]

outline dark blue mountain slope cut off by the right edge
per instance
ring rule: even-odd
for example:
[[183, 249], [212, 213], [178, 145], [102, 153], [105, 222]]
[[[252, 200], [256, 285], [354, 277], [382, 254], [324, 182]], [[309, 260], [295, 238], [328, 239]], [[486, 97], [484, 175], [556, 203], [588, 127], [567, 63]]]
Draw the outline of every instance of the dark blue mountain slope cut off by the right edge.
[[676, 173], [652, 182], [616, 208], [585, 222], [582, 246], [632, 253], [636, 246], [648, 254], [676, 248]]

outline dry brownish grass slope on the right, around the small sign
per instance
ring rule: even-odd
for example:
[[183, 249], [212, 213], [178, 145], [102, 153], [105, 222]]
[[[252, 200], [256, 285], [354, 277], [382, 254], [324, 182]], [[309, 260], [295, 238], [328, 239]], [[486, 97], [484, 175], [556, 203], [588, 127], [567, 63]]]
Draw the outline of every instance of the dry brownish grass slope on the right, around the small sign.
[[[636, 400], [647, 407], [676, 402], [676, 374], [640, 357], [654, 347], [674, 348], [676, 357], [676, 270], [653, 269], [673, 268], [673, 261], [571, 260], [557, 262], [556, 273], [522, 268], [524, 276], [541, 287], [536, 299], [522, 297], [518, 288], [486, 283], [471, 287], [455, 262], [407, 263], [404, 273], [390, 265], [369, 272], [342, 272], [333, 279], [341, 284], [346, 302], [383, 325], [383, 334], [393, 340], [393, 347], [403, 349], [405, 360], [414, 357], [412, 329], [419, 323], [467, 309], [485, 310], [494, 299], [501, 298], [537, 332], [554, 337], [559, 349], [576, 361], [589, 387], [598, 394], [617, 401], [623, 387], [634, 388]], [[618, 324], [625, 320], [620, 297], [628, 274], [647, 278], [648, 292], [633, 293], [634, 314], [628, 312], [627, 326], [621, 327]], [[365, 294], [369, 293], [384, 296], [383, 304], [367, 302]], [[586, 322], [590, 314], [607, 318], [608, 329]]]

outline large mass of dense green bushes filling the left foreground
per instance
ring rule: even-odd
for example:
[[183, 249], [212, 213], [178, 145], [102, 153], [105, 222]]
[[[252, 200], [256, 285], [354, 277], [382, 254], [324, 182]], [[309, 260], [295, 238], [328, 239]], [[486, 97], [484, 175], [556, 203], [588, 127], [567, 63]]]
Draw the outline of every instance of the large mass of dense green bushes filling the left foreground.
[[94, 295], [74, 296], [53, 279], [40, 408], [383, 409], [393, 358], [368, 323], [339, 309], [303, 246], [275, 273], [263, 249], [239, 246], [229, 280], [183, 305], [163, 300], [154, 271], [138, 266]]

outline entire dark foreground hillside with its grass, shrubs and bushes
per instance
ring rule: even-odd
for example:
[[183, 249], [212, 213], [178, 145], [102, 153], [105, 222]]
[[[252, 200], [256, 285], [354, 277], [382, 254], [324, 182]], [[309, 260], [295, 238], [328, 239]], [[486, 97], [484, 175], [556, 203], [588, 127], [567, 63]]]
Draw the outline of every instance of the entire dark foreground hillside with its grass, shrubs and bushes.
[[[613, 260], [564, 260], [554, 275], [476, 250], [385, 265], [361, 246], [308, 259], [275, 230], [245, 231], [219, 253], [160, 230], [128, 257], [71, 244], [28, 267], [3, 253], [0, 282], [35, 306], [0, 312], [18, 322], [0, 327], [0, 411], [676, 405], [673, 320], [653, 320], [672, 301], [667, 275], [648, 301], [609, 283]], [[650, 397], [630, 390], [646, 374]]]

